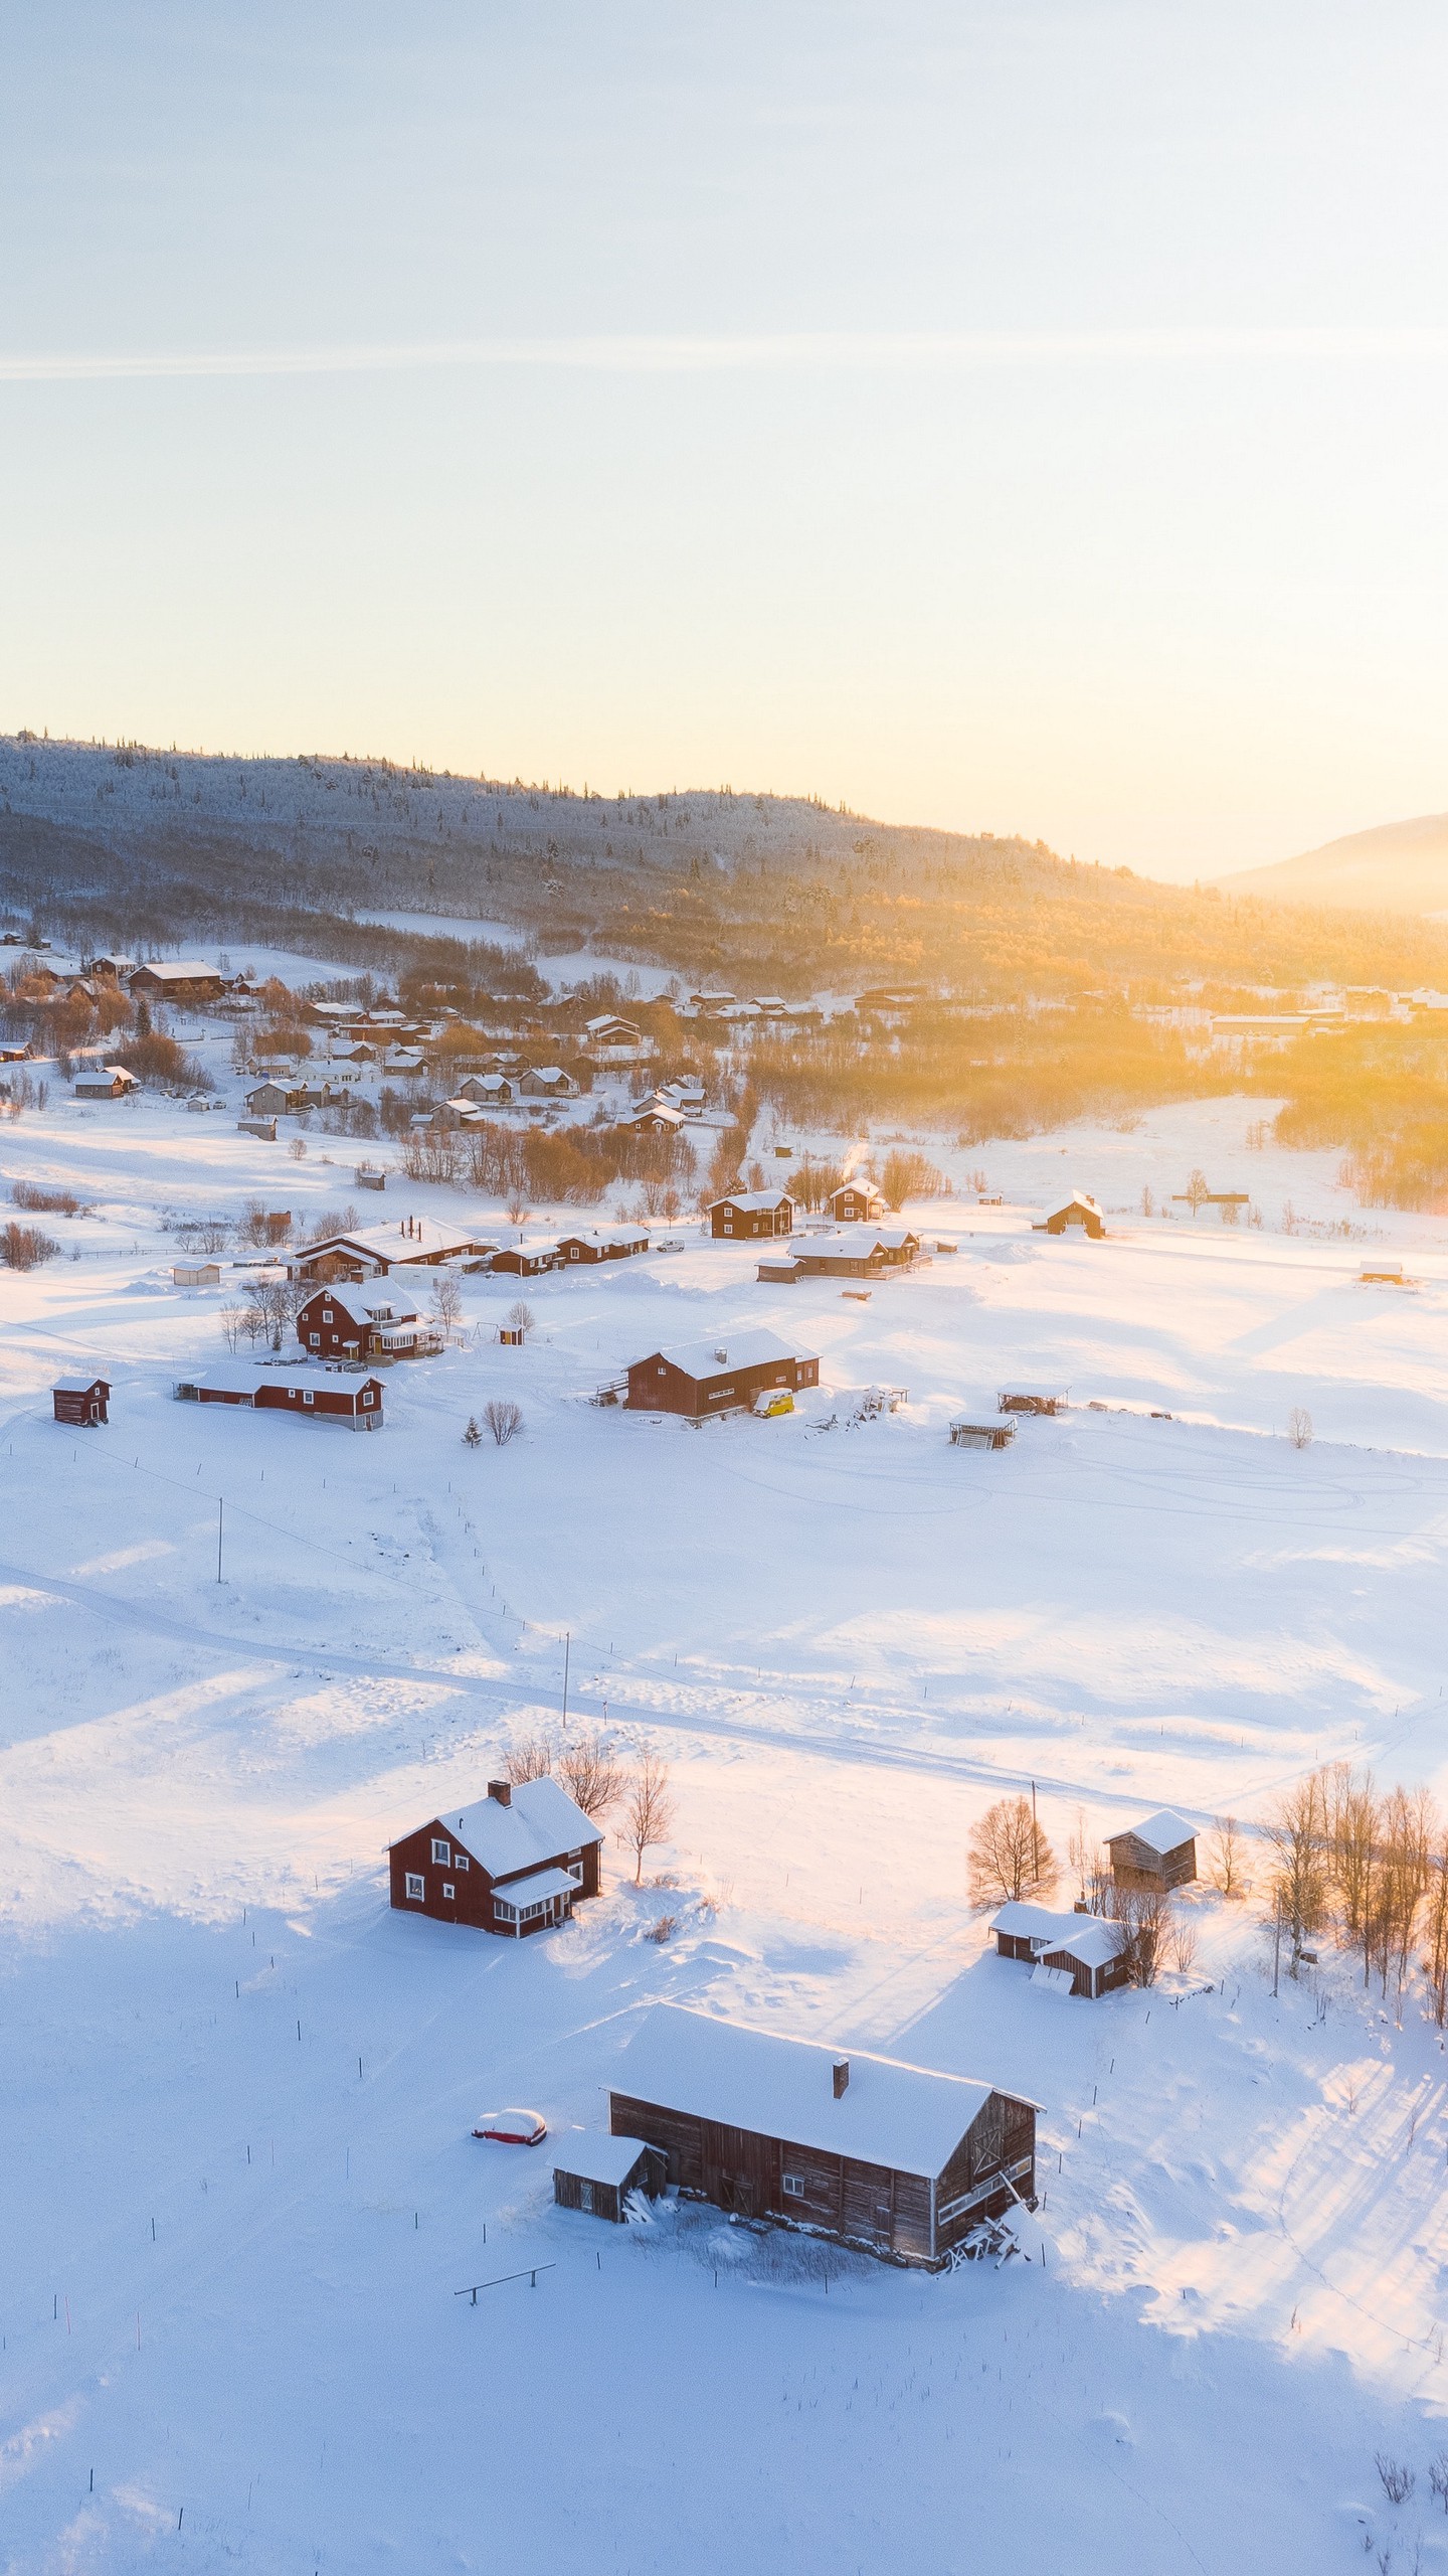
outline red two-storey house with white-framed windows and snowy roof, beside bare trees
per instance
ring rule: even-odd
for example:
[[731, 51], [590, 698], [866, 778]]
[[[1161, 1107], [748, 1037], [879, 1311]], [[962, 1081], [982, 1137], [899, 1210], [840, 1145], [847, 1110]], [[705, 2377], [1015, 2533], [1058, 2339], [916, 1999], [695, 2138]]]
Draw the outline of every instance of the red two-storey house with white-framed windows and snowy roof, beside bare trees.
[[557, 1780], [490, 1780], [487, 1798], [433, 1816], [389, 1847], [392, 1904], [526, 1940], [598, 1896], [603, 1834]]

